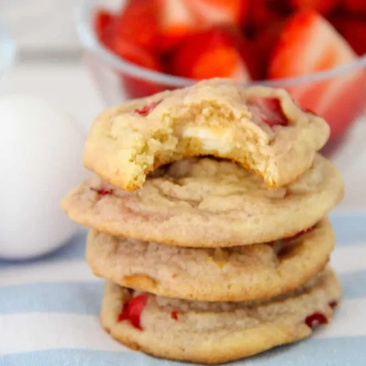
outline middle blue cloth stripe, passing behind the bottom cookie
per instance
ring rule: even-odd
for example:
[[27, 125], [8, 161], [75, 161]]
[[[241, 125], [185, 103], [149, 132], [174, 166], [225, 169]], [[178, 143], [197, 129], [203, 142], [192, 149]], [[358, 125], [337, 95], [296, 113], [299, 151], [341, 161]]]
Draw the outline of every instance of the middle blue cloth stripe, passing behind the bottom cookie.
[[[366, 296], [366, 270], [340, 275], [343, 298]], [[0, 287], [0, 314], [62, 312], [99, 314], [103, 282], [37, 283]]]

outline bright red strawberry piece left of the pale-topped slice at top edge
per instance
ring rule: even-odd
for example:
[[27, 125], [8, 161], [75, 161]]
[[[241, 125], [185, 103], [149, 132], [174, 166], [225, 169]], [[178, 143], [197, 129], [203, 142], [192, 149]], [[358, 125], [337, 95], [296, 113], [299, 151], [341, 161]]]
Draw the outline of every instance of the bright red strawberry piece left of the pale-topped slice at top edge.
[[145, 50], [156, 49], [159, 42], [158, 10], [156, 0], [128, 2], [115, 17], [114, 37]]

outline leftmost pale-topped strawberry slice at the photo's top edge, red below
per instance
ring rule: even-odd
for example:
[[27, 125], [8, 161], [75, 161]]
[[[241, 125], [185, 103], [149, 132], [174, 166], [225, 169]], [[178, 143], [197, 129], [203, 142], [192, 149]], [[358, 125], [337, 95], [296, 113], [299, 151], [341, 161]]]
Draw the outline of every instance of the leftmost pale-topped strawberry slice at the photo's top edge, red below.
[[185, 37], [199, 31], [202, 24], [185, 0], [157, 0], [159, 5], [159, 49], [169, 51]]

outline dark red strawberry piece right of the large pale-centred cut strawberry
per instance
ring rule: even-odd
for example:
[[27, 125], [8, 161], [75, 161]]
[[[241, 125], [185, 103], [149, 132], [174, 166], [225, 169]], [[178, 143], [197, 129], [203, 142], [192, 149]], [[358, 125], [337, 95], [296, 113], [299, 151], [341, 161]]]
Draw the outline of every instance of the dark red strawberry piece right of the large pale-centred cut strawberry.
[[342, 16], [330, 21], [357, 54], [362, 56], [366, 53], [366, 20]]

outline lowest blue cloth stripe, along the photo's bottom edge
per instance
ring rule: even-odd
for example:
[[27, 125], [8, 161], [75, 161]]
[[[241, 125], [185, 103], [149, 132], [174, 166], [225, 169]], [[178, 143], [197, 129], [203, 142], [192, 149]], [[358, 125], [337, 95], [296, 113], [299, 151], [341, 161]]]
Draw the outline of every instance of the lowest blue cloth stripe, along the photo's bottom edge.
[[[309, 339], [278, 347], [231, 366], [365, 366], [366, 337]], [[177, 366], [140, 352], [59, 349], [0, 356], [1, 366]]]

